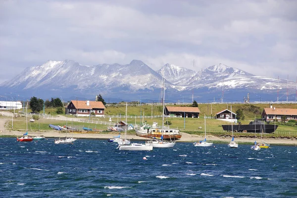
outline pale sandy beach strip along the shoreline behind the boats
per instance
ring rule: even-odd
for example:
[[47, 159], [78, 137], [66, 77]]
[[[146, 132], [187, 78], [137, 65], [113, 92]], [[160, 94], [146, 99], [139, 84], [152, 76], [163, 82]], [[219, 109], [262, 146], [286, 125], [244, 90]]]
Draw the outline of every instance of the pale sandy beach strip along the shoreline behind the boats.
[[[4, 135], [12, 135], [12, 136], [22, 136], [24, 131], [16, 131], [16, 130], [7, 130], [4, 127], [4, 124], [6, 122], [6, 119], [0, 119], [0, 137]], [[66, 136], [66, 133], [56, 131], [53, 129], [41, 131], [41, 134], [44, 135], [46, 138], [62, 138]], [[192, 135], [188, 133], [181, 132], [182, 138], [180, 140], [177, 140], [177, 142], [197, 142], [204, 139], [204, 136], [201, 135]], [[38, 135], [38, 132], [29, 132], [29, 135], [35, 136]], [[107, 140], [109, 138], [112, 138], [113, 136], [117, 136], [118, 132], [110, 132], [108, 134], [100, 134], [100, 133], [68, 133], [67, 136], [69, 137], [75, 137], [78, 139], [100, 139], [100, 140]], [[122, 133], [123, 136], [123, 133]], [[131, 140], [145, 140], [146, 138], [139, 137], [137, 135], [127, 135], [129, 139]], [[229, 142], [231, 140], [230, 137], [216, 137], [212, 135], [207, 135], [206, 139], [208, 141], [221, 141], [221, 142]], [[236, 138], [236, 141], [239, 143], [246, 143], [246, 144], [253, 144], [254, 139], [252, 138]], [[297, 146], [297, 140], [295, 139], [266, 139], [267, 143], [270, 143], [272, 145], [282, 144], [282, 145], [296, 145]]]

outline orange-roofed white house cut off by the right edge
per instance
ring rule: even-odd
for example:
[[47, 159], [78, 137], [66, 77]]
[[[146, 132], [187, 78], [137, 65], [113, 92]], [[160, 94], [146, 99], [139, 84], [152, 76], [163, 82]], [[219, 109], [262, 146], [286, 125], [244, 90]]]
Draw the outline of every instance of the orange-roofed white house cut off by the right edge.
[[283, 116], [286, 116], [286, 120], [297, 120], [297, 109], [272, 108], [271, 105], [270, 108], [264, 108], [262, 112], [262, 119], [265, 121], [273, 121], [274, 119], [281, 121]]

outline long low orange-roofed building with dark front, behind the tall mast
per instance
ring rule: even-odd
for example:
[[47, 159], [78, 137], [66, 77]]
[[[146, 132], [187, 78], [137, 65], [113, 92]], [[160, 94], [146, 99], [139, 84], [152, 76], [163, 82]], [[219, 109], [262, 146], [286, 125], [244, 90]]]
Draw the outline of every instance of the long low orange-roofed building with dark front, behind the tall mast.
[[165, 107], [165, 115], [179, 116], [181, 118], [199, 118], [200, 110], [198, 107]]

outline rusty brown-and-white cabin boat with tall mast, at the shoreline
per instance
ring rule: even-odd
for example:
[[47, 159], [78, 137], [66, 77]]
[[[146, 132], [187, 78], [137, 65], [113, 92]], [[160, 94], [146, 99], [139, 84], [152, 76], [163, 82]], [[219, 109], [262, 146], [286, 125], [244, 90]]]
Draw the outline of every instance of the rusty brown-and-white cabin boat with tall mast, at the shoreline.
[[[165, 84], [165, 80], [164, 80], [164, 84]], [[165, 87], [165, 85], [163, 85], [163, 87]], [[163, 97], [162, 118], [164, 118], [164, 97]], [[152, 125], [149, 125], [147, 121], [145, 121], [145, 123], [143, 123], [139, 128], [135, 128], [135, 132], [137, 136], [141, 136], [145, 138], [153, 138], [153, 139], [162, 139], [162, 140], [168, 140], [168, 141], [178, 140], [178, 139], [181, 139], [182, 137], [180, 130], [171, 129], [169, 127], [164, 128], [164, 123], [162, 123], [162, 127], [158, 126], [157, 122], [153, 122]]]

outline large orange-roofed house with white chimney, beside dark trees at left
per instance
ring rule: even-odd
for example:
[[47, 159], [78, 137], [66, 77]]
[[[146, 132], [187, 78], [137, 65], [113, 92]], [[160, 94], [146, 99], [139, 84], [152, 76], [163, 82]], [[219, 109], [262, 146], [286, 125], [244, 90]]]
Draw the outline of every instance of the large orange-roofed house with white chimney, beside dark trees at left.
[[66, 107], [65, 114], [74, 116], [90, 116], [94, 113], [96, 117], [103, 117], [104, 110], [105, 106], [101, 101], [71, 100]]

